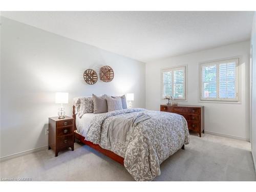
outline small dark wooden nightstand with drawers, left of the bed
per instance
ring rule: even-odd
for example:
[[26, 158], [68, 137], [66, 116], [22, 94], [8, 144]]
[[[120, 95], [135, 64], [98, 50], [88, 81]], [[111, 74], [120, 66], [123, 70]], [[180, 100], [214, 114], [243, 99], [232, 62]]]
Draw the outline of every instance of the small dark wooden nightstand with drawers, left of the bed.
[[49, 140], [48, 149], [58, 152], [71, 147], [74, 151], [74, 118], [65, 116], [65, 119], [58, 117], [49, 118]]

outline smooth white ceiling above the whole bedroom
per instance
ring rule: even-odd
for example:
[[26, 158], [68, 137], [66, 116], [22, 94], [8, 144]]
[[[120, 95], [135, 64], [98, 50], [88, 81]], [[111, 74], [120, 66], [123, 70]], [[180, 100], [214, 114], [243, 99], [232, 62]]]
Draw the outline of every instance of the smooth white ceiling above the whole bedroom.
[[250, 38], [253, 12], [2, 12], [3, 16], [147, 62]]

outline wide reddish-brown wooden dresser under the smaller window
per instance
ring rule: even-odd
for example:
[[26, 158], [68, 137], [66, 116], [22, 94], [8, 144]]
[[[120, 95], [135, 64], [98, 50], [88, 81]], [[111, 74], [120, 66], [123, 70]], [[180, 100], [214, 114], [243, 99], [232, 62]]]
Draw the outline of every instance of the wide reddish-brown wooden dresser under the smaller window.
[[187, 120], [188, 130], [204, 133], [204, 106], [161, 104], [160, 111], [177, 113]]

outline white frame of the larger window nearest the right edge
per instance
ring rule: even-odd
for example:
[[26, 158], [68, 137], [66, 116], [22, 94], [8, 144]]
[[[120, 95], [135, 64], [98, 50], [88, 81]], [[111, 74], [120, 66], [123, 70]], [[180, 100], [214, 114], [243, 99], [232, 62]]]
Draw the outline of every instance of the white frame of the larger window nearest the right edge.
[[[219, 66], [220, 63], [223, 62], [228, 62], [228, 61], [234, 61], [236, 60], [236, 82], [235, 82], [235, 88], [236, 88], [236, 98], [219, 98]], [[212, 101], [212, 102], [235, 102], [235, 103], [240, 103], [240, 65], [239, 65], [239, 57], [232, 57], [232, 58], [226, 58], [226, 59], [218, 59], [218, 60], [213, 60], [213, 61], [206, 61], [206, 62], [200, 62], [199, 63], [199, 87], [200, 87], [200, 101]], [[212, 65], [217, 65], [217, 98], [203, 98], [202, 97], [202, 92], [203, 92], [203, 81], [202, 81], [202, 68], [203, 66], [212, 66]]]

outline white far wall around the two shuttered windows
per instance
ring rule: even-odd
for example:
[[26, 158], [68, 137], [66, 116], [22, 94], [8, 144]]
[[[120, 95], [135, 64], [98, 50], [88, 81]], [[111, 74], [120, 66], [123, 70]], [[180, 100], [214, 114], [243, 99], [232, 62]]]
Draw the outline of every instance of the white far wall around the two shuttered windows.
[[[205, 131], [249, 140], [249, 53], [250, 42], [244, 41], [146, 63], [146, 108], [160, 110], [160, 103], [166, 103], [160, 99], [160, 69], [187, 65], [187, 102], [179, 104], [205, 106]], [[199, 102], [199, 62], [233, 56], [241, 56], [241, 104]]]

